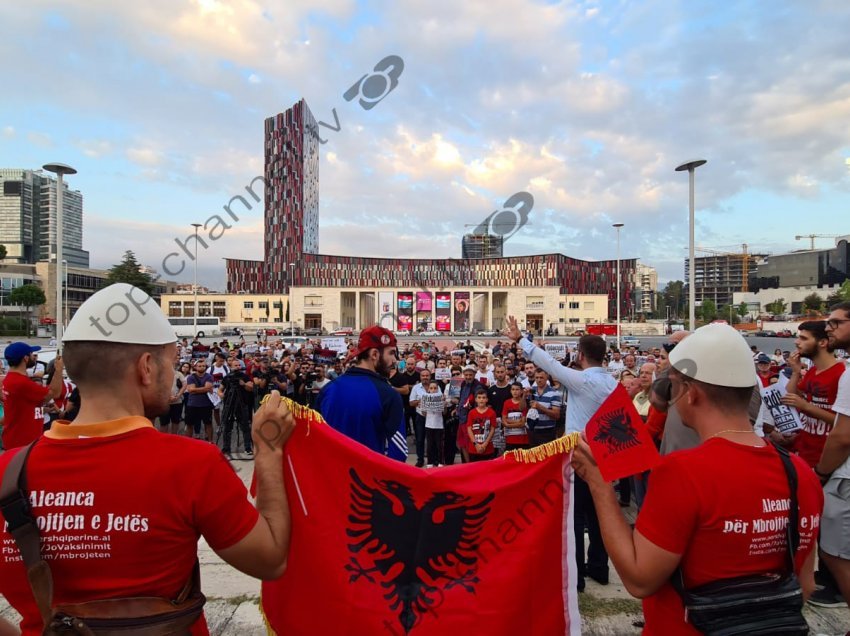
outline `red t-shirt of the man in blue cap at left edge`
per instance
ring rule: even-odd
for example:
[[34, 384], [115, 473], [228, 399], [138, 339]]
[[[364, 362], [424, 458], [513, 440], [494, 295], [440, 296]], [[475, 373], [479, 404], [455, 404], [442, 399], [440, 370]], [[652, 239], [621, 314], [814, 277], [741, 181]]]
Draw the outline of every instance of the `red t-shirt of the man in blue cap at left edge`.
[[44, 430], [43, 404], [50, 389], [12, 371], [3, 379], [3, 448], [26, 446]]

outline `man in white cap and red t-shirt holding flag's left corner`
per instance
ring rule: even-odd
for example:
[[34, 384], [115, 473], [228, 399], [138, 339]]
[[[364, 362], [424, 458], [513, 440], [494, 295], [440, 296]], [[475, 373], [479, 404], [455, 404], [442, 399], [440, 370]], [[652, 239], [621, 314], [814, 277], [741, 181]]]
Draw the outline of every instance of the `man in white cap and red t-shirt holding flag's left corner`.
[[[168, 602], [190, 587], [200, 594], [193, 574], [200, 536], [251, 576], [274, 579], [285, 569], [290, 522], [281, 465], [292, 415], [274, 392], [254, 416], [255, 508], [215, 446], [160, 433], [151, 423], [168, 408], [175, 340], [142, 290], [119, 283], [98, 291], [63, 339], [68, 373], [83, 397], [79, 415], [55, 422], [33, 446], [0, 455], [6, 490], [9, 464], [29, 452], [25, 489], [14, 492], [38, 522], [54, 606], [129, 597]], [[40, 634], [42, 616], [4, 527], [26, 518], [22, 508], [0, 513], [0, 595], [23, 616], [24, 634]], [[16, 514], [7, 517], [10, 510]], [[24, 552], [31, 561], [32, 552]], [[196, 616], [191, 633], [207, 634], [203, 613]]]

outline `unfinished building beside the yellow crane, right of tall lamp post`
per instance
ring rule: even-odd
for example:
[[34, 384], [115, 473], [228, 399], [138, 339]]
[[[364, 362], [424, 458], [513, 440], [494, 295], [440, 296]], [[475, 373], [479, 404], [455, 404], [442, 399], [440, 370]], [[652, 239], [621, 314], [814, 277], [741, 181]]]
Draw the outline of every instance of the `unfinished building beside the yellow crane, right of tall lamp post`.
[[[750, 273], [756, 270], [757, 261], [765, 254], [750, 254], [746, 245], [739, 253], [719, 252], [698, 248], [706, 255], [694, 259], [696, 304], [711, 300], [715, 306], [728, 305], [732, 294], [749, 290]], [[690, 284], [690, 263], [685, 259], [685, 282]]]

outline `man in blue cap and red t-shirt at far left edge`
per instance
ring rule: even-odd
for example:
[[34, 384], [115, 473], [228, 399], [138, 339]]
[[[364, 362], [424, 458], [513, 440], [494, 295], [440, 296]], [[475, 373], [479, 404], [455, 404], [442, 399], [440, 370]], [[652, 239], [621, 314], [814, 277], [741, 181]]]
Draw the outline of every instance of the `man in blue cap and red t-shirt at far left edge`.
[[62, 357], [56, 356], [55, 372], [49, 386], [33, 382], [27, 369], [35, 366], [35, 352], [41, 347], [25, 342], [13, 342], [6, 347], [4, 357], [9, 373], [3, 379], [3, 448], [26, 446], [41, 437], [44, 429], [45, 405], [62, 393]]

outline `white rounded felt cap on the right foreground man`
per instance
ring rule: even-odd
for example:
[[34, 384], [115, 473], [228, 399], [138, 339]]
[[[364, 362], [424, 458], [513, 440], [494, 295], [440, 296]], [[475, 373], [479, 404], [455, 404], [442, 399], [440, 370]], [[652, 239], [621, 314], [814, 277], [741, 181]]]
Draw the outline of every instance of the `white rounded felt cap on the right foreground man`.
[[729, 325], [700, 327], [676, 345], [669, 360], [682, 375], [706, 384], [743, 388], [758, 382], [750, 347]]

